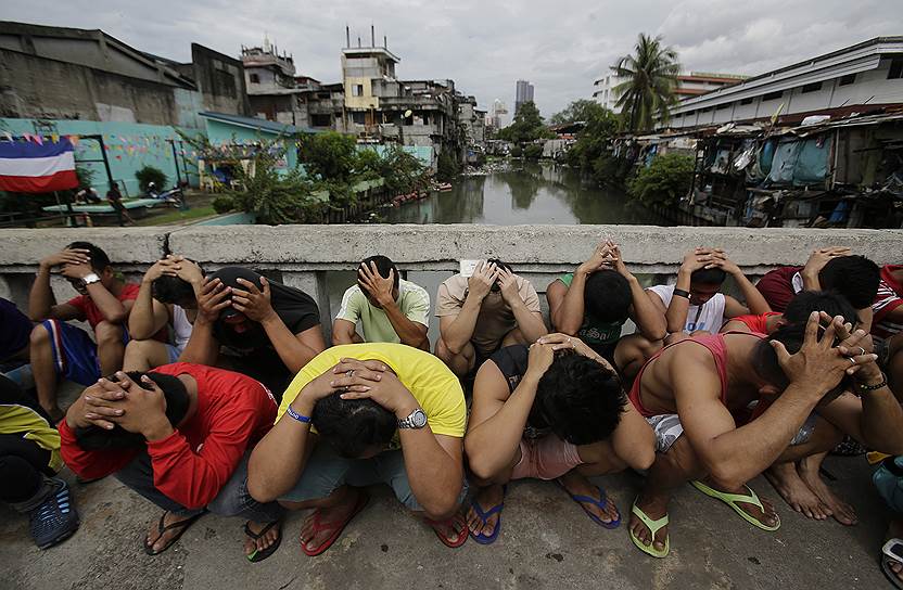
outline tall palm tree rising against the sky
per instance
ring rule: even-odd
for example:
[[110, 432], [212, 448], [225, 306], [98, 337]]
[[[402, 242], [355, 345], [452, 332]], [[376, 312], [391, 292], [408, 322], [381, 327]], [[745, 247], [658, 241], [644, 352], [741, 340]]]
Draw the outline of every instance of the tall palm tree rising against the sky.
[[661, 37], [640, 33], [634, 50], [634, 55], [625, 55], [611, 66], [614, 75], [625, 80], [612, 91], [619, 97], [616, 105], [627, 128], [647, 131], [654, 126], [657, 117], [666, 121], [669, 106], [677, 102], [674, 86], [681, 64], [677, 52], [663, 46]]

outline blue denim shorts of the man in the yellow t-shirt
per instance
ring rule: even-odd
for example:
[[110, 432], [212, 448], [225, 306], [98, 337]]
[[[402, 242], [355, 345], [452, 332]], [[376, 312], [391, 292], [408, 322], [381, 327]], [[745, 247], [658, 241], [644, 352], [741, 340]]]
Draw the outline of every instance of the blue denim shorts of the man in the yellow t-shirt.
[[[414, 490], [410, 489], [402, 449], [383, 451], [370, 459], [345, 459], [323, 441], [319, 441], [314, 448], [295, 487], [279, 499], [289, 502], [319, 500], [344, 485], [365, 487], [376, 484], [389, 485], [398, 501], [407, 509], [415, 512], [423, 511], [414, 497]], [[467, 491], [465, 478], [460, 501], [463, 501]]]

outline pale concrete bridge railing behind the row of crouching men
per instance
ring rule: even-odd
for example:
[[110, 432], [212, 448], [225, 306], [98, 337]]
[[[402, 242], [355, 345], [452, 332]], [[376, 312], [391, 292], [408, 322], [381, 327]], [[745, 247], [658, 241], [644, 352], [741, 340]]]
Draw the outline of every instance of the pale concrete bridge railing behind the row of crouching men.
[[[828, 245], [849, 246], [879, 265], [903, 261], [903, 230], [475, 225], [10, 229], [0, 230], [0, 296], [27, 309], [38, 260], [84, 240], [106, 251], [135, 280], [169, 253], [192, 258], [207, 270], [229, 265], [262, 270], [315, 297], [326, 326], [344, 287], [354, 280], [352, 271], [367, 256], [389, 256], [432, 297], [438, 284], [457, 272], [458, 260], [487, 257], [511, 264], [542, 293], [603, 239], [621, 245], [627, 267], [645, 282], [676, 273], [684, 254], [698, 245], [724, 248], [748, 275], [801, 265], [812, 249]], [[58, 299], [74, 294], [61, 278], [53, 284]], [[431, 336], [436, 335], [437, 326], [432, 325]]]

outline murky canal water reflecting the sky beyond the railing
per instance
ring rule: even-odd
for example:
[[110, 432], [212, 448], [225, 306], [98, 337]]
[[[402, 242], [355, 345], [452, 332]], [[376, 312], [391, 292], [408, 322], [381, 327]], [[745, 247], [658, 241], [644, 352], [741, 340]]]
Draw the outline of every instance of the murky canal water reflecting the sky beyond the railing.
[[573, 168], [514, 163], [506, 171], [459, 177], [448, 192], [380, 211], [389, 223], [660, 225], [623, 191], [597, 187]]

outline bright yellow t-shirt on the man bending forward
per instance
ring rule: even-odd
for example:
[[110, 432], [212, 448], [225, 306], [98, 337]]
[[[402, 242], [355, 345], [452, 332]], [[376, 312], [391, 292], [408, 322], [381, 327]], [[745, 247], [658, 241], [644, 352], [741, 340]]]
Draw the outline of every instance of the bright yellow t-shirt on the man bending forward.
[[398, 375], [398, 380], [423, 408], [433, 434], [463, 438], [467, 403], [458, 377], [438, 358], [419, 348], [394, 343], [345, 344], [327, 348], [295, 375], [282, 394], [276, 421], [294, 401], [305, 385], [332, 369], [342, 358], [379, 360]]

